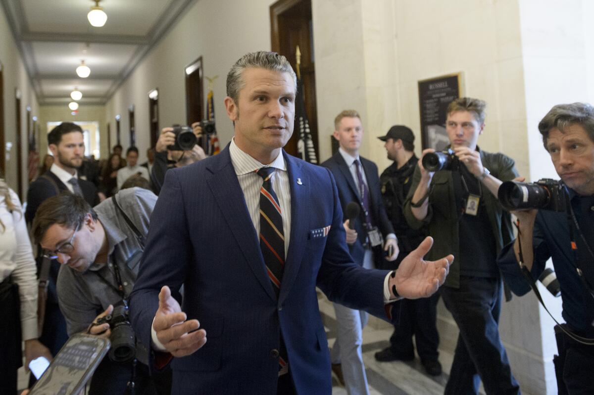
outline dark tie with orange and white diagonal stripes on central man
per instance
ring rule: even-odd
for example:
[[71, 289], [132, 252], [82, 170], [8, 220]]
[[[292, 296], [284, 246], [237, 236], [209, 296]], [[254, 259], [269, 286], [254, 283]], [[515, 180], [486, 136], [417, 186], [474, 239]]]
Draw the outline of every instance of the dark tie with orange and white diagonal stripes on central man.
[[[266, 271], [276, 297], [280, 294], [280, 282], [285, 269], [285, 235], [283, 234], [283, 217], [279, 199], [272, 188], [274, 167], [263, 167], [257, 170], [264, 183], [260, 187], [260, 249], [264, 256]], [[279, 376], [289, 371], [287, 349], [280, 335]]]

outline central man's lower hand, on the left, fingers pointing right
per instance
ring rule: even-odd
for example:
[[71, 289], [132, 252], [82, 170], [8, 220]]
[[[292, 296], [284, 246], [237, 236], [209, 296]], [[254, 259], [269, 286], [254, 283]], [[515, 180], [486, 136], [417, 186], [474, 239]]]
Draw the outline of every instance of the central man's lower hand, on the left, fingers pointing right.
[[206, 343], [206, 330], [198, 329], [198, 320], [187, 320], [168, 286], [159, 292], [159, 308], [154, 315], [153, 329], [157, 339], [173, 356], [194, 353]]

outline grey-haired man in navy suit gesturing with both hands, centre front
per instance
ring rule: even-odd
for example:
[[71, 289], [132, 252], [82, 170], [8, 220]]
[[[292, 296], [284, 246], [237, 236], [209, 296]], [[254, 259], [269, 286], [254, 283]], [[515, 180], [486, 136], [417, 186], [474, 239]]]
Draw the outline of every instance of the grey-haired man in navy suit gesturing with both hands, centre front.
[[393, 276], [353, 263], [330, 171], [282, 150], [295, 115], [289, 62], [248, 53], [230, 70], [227, 93], [230, 144], [166, 173], [132, 324], [154, 351], [151, 367], [175, 357], [173, 394], [330, 394], [315, 286], [388, 319], [396, 294], [437, 291], [453, 256], [423, 261], [428, 238]]

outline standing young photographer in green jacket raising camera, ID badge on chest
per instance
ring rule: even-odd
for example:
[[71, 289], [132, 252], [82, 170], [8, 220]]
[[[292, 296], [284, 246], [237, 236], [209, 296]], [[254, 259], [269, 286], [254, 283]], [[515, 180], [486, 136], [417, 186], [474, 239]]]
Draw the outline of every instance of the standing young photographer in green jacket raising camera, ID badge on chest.
[[479, 378], [488, 395], [520, 393], [499, 337], [503, 285], [496, 263], [513, 238], [497, 189], [517, 172], [511, 158], [476, 145], [485, 128], [485, 107], [468, 97], [450, 103], [445, 130], [451, 151], [423, 151], [404, 208], [410, 227], [428, 226], [435, 240], [431, 257], [456, 257], [440, 290], [460, 329], [445, 394], [476, 394]]

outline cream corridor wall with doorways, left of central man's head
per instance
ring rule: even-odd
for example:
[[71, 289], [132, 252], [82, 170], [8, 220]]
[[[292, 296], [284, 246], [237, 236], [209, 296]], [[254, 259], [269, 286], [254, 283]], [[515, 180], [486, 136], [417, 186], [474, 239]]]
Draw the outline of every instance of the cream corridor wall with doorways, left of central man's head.
[[[225, 79], [230, 66], [244, 53], [270, 49], [268, 7], [274, 1], [200, 0], [185, 12], [168, 36], [151, 50], [140, 66], [116, 91], [106, 106], [115, 144], [115, 116], [120, 114], [121, 139], [129, 145], [128, 107], [135, 106], [135, 125], [140, 161], [149, 148], [149, 91], [159, 88], [159, 127], [173, 123], [185, 125], [184, 68], [202, 56], [204, 75], [219, 75], [214, 82], [214, 112], [217, 133], [222, 146], [233, 135], [232, 124], [225, 113]], [[207, 81], [204, 79], [206, 90]], [[204, 92], [206, 104], [206, 91]]]

